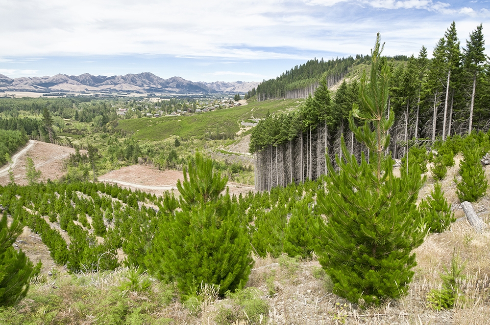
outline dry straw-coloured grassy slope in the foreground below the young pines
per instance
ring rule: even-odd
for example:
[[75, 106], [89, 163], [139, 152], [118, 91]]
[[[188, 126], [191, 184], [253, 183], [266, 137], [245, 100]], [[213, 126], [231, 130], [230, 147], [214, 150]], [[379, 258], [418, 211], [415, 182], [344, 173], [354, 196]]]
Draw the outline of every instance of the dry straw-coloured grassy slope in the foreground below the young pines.
[[[204, 291], [196, 300], [185, 302], [171, 285], [145, 273], [135, 277], [134, 268], [69, 275], [66, 267], [56, 265], [49, 256], [49, 248], [40, 235], [25, 227], [16, 245], [31, 260], [42, 260], [44, 267], [26, 299], [17, 307], [1, 309], [0, 322], [102, 324], [98, 322], [123, 319], [140, 322], [136, 324], [490, 324], [489, 233], [488, 230], [475, 233], [459, 207], [452, 180], [460, 160], [461, 156], [457, 156], [455, 166], [448, 170], [442, 184], [456, 217], [463, 218], [441, 234], [428, 235], [417, 248], [414, 281], [400, 300], [361, 309], [332, 293], [332, 282], [315, 256], [298, 259], [269, 255], [254, 256], [255, 264], [246, 288], [237, 295], [220, 298], [212, 291]], [[487, 168], [487, 178], [489, 172]], [[142, 175], [146, 177], [142, 181], [154, 182], [150, 179], [152, 175]], [[429, 174], [421, 196], [429, 194], [433, 184]], [[488, 195], [473, 206], [488, 224]], [[69, 239], [57, 223], [50, 224]], [[467, 278], [460, 288], [466, 298], [455, 308], [434, 310], [429, 292], [441, 287], [440, 275], [450, 265], [455, 250], [465, 265], [463, 272]], [[242, 323], [237, 323], [238, 320]]]

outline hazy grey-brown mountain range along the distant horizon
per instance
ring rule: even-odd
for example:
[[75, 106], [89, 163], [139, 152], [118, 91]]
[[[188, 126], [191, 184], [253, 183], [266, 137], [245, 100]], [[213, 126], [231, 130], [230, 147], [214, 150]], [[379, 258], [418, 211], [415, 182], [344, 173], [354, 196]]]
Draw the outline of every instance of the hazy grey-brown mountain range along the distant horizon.
[[160, 78], [153, 73], [129, 73], [124, 76], [93, 76], [84, 73], [79, 76], [57, 74], [52, 77], [9, 78], [0, 74], [0, 91], [36, 91], [36, 92], [160, 92], [160, 93], [245, 93], [258, 82], [192, 82], [181, 77]]

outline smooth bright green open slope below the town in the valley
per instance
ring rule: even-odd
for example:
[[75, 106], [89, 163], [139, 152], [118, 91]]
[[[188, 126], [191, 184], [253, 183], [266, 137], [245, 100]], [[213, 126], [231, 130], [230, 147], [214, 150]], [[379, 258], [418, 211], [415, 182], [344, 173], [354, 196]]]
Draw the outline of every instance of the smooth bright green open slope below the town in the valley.
[[177, 135], [182, 138], [209, 138], [217, 134], [235, 134], [240, 122], [263, 118], [267, 112], [295, 109], [302, 100], [269, 100], [219, 109], [193, 116], [164, 116], [121, 120], [117, 129], [133, 133], [140, 140], [158, 141]]

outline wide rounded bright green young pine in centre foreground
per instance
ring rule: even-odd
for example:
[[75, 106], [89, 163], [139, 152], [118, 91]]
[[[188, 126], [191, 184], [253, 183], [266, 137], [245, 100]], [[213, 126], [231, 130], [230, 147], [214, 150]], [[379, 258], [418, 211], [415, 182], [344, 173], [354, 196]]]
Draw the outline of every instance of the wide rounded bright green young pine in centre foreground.
[[[237, 203], [226, 191], [226, 178], [215, 173], [211, 159], [196, 154], [189, 178], [178, 183], [182, 211], [162, 220], [145, 264], [157, 278], [177, 282], [184, 296], [201, 283], [219, 285], [220, 295], [245, 286], [253, 259]], [[172, 210], [172, 209], [168, 209]]]

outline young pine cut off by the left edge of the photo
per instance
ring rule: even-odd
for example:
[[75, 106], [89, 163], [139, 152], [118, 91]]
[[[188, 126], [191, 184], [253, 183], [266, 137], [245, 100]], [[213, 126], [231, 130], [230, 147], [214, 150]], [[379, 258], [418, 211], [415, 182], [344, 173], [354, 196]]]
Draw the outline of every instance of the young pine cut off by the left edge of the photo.
[[23, 229], [16, 217], [9, 226], [7, 214], [3, 213], [0, 220], [0, 306], [11, 306], [24, 298], [29, 278], [39, 274], [41, 269], [41, 262], [34, 267], [24, 252], [13, 246]]

